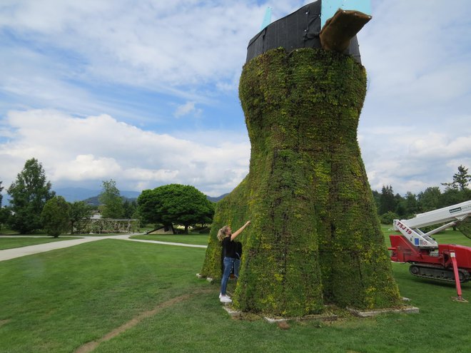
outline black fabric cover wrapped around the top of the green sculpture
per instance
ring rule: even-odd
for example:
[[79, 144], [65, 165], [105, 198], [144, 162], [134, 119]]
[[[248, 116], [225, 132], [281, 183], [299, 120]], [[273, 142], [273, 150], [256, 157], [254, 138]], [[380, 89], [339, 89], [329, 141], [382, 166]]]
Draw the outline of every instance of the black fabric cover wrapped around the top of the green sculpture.
[[[288, 52], [295, 48], [320, 48], [320, 6], [321, 0], [314, 1], [266, 26], [250, 39], [245, 62], [280, 46]], [[357, 36], [350, 40], [350, 46], [344, 53], [361, 63]]]

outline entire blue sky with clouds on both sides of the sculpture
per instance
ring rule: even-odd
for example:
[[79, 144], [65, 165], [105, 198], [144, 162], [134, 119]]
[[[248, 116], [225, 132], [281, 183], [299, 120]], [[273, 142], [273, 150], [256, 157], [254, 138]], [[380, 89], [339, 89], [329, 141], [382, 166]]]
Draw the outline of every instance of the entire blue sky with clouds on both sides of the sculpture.
[[[247, 175], [246, 48], [310, 1], [1, 0], [0, 181], [36, 158], [53, 188], [169, 183], [210, 196]], [[358, 34], [358, 142], [373, 190], [471, 170], [471, 1], [373, 0]], [[5, 190], [4, 190], [5, 193]]]

